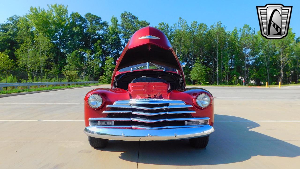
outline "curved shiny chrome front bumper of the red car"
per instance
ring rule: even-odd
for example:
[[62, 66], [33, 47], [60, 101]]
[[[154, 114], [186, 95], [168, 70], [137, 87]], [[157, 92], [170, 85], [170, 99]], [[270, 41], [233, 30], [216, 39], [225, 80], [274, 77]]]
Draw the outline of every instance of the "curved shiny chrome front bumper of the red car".
[[125, 140], [125, 141], [154, 141], [154, 140], [180, 140], [207, 136], [214, 132], [210, 125], [202, 125], [191, 128], [167, 128], [167, 129], [126, 129], [126, 128], [99, 128], [86, 127], [84, 133], [91, 137]]

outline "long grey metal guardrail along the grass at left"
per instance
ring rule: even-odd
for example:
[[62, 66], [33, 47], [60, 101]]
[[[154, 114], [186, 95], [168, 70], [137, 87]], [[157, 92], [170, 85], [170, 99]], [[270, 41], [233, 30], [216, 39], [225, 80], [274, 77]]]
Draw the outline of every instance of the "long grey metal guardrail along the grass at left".
[[65, 86], [68, 84], [90, 84], [90, 83], [99, 83], [99, 81], [66, 81], [66, 82], [35, 82], [35, 83], [0, 83], [0, 91], [3, 87], [15, 87], [16, 89], [18, 86], [27, 86], [29, 89], [30, 86], [38, 86], [40, 88], [41, 86], [49, 87], [49, 85], [59, 85], [61, 86], [64, 84]]

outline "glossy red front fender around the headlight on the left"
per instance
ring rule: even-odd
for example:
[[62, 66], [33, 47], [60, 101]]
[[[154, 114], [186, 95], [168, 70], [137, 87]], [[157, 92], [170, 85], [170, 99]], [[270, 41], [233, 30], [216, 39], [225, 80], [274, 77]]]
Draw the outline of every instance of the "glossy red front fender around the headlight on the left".
[[[99, 94], [103, 99], [102, 105], [97, 109], [93, 109], [88, 105], [88, 97], [91, 94]], [[89, 118], [106, 117], [107, 114], [102, 113], [105, 110], [106, 105], [111, 105], [115, 101], [118, 101], [118, 100], [129, 100], [129, 99], [131, 99], [130, 94], [127, 91], [125, 91], [123, 89], [119, 89], [119, 88], [116, 88], [116, 89], [97, 88], [97, 89], [89, 91], [84, 97], [85, 126], [86, 127], [89, 126], [88, 125]]]

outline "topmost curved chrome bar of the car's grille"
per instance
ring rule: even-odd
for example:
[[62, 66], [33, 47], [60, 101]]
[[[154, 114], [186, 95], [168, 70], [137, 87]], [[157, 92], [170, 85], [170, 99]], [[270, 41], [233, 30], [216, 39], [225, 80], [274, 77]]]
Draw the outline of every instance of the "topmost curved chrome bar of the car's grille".
[[169, 104], [169, 105], [185, 105], [182, 100], [169, 100], [169, 99], [131, 99], [119, 100], [113, 105], [132, 105], [132, 104]]

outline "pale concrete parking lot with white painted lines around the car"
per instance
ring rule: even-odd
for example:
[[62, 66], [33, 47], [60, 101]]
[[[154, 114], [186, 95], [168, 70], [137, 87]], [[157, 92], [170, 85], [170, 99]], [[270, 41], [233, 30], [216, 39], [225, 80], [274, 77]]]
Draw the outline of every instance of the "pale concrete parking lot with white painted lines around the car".
[[83, 98], [94, 88], [0, 98], [0, 168], [300, 166], [299, 86], [203, 87], [215, 97], [215, 132], [206, 149], [188, 140], [110, 140], [105, 149], [92, 148], [83, 133]]

